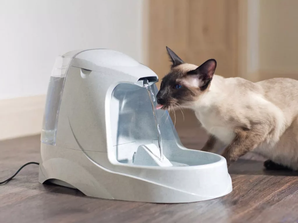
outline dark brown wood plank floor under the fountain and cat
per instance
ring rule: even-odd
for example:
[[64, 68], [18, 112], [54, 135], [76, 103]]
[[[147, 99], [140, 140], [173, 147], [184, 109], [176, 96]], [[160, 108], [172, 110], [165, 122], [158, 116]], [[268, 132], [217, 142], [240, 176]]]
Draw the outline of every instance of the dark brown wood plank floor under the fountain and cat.
[[[198, 127], [178, 128], [183, 144], [201, 147]], [[39, 161], [40, 136], [0, 142], [0, 181], [22, 164]], [[229, 195], [190, 204], [149, 204], [95, 199], [80, 191], [38, 183], [38, 166], [25, 167], [0, 185], [0, 222], [298, 222], [298, 174], [264, 171], [263, 161], [247, 156], [229, 168]], [[296, 175], [296, 176], [295, 176]]]

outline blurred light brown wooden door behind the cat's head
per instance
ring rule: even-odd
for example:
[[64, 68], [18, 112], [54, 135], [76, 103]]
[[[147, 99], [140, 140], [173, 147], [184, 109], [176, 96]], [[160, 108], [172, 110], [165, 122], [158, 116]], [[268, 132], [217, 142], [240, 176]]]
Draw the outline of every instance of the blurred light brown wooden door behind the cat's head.
[[149, 67], [160, 79], [169, 71], [168, 46], [184, 62], [214, 58], [215, 74], [237, 76], [239, 1], [150, 0]]

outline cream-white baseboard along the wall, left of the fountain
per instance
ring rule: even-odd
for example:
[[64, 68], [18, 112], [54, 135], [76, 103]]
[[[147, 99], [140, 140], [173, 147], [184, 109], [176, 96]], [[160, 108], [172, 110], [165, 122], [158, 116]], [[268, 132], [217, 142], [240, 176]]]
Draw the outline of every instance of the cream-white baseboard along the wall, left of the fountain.
[[45, 95], [0, 100], [0, 140], [40, 134]]

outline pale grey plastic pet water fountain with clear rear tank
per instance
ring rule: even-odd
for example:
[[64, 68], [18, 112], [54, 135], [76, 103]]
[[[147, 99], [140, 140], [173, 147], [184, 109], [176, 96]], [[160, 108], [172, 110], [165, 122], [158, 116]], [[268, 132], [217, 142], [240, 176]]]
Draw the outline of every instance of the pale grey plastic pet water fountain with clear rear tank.
[[39, 182], [154, 203], [230, 193], [224, 157], [182, 146], [167, 111], [155, 109], [157, 81], [148, 67], [113, 50], [58, 57], [46, 98]]

